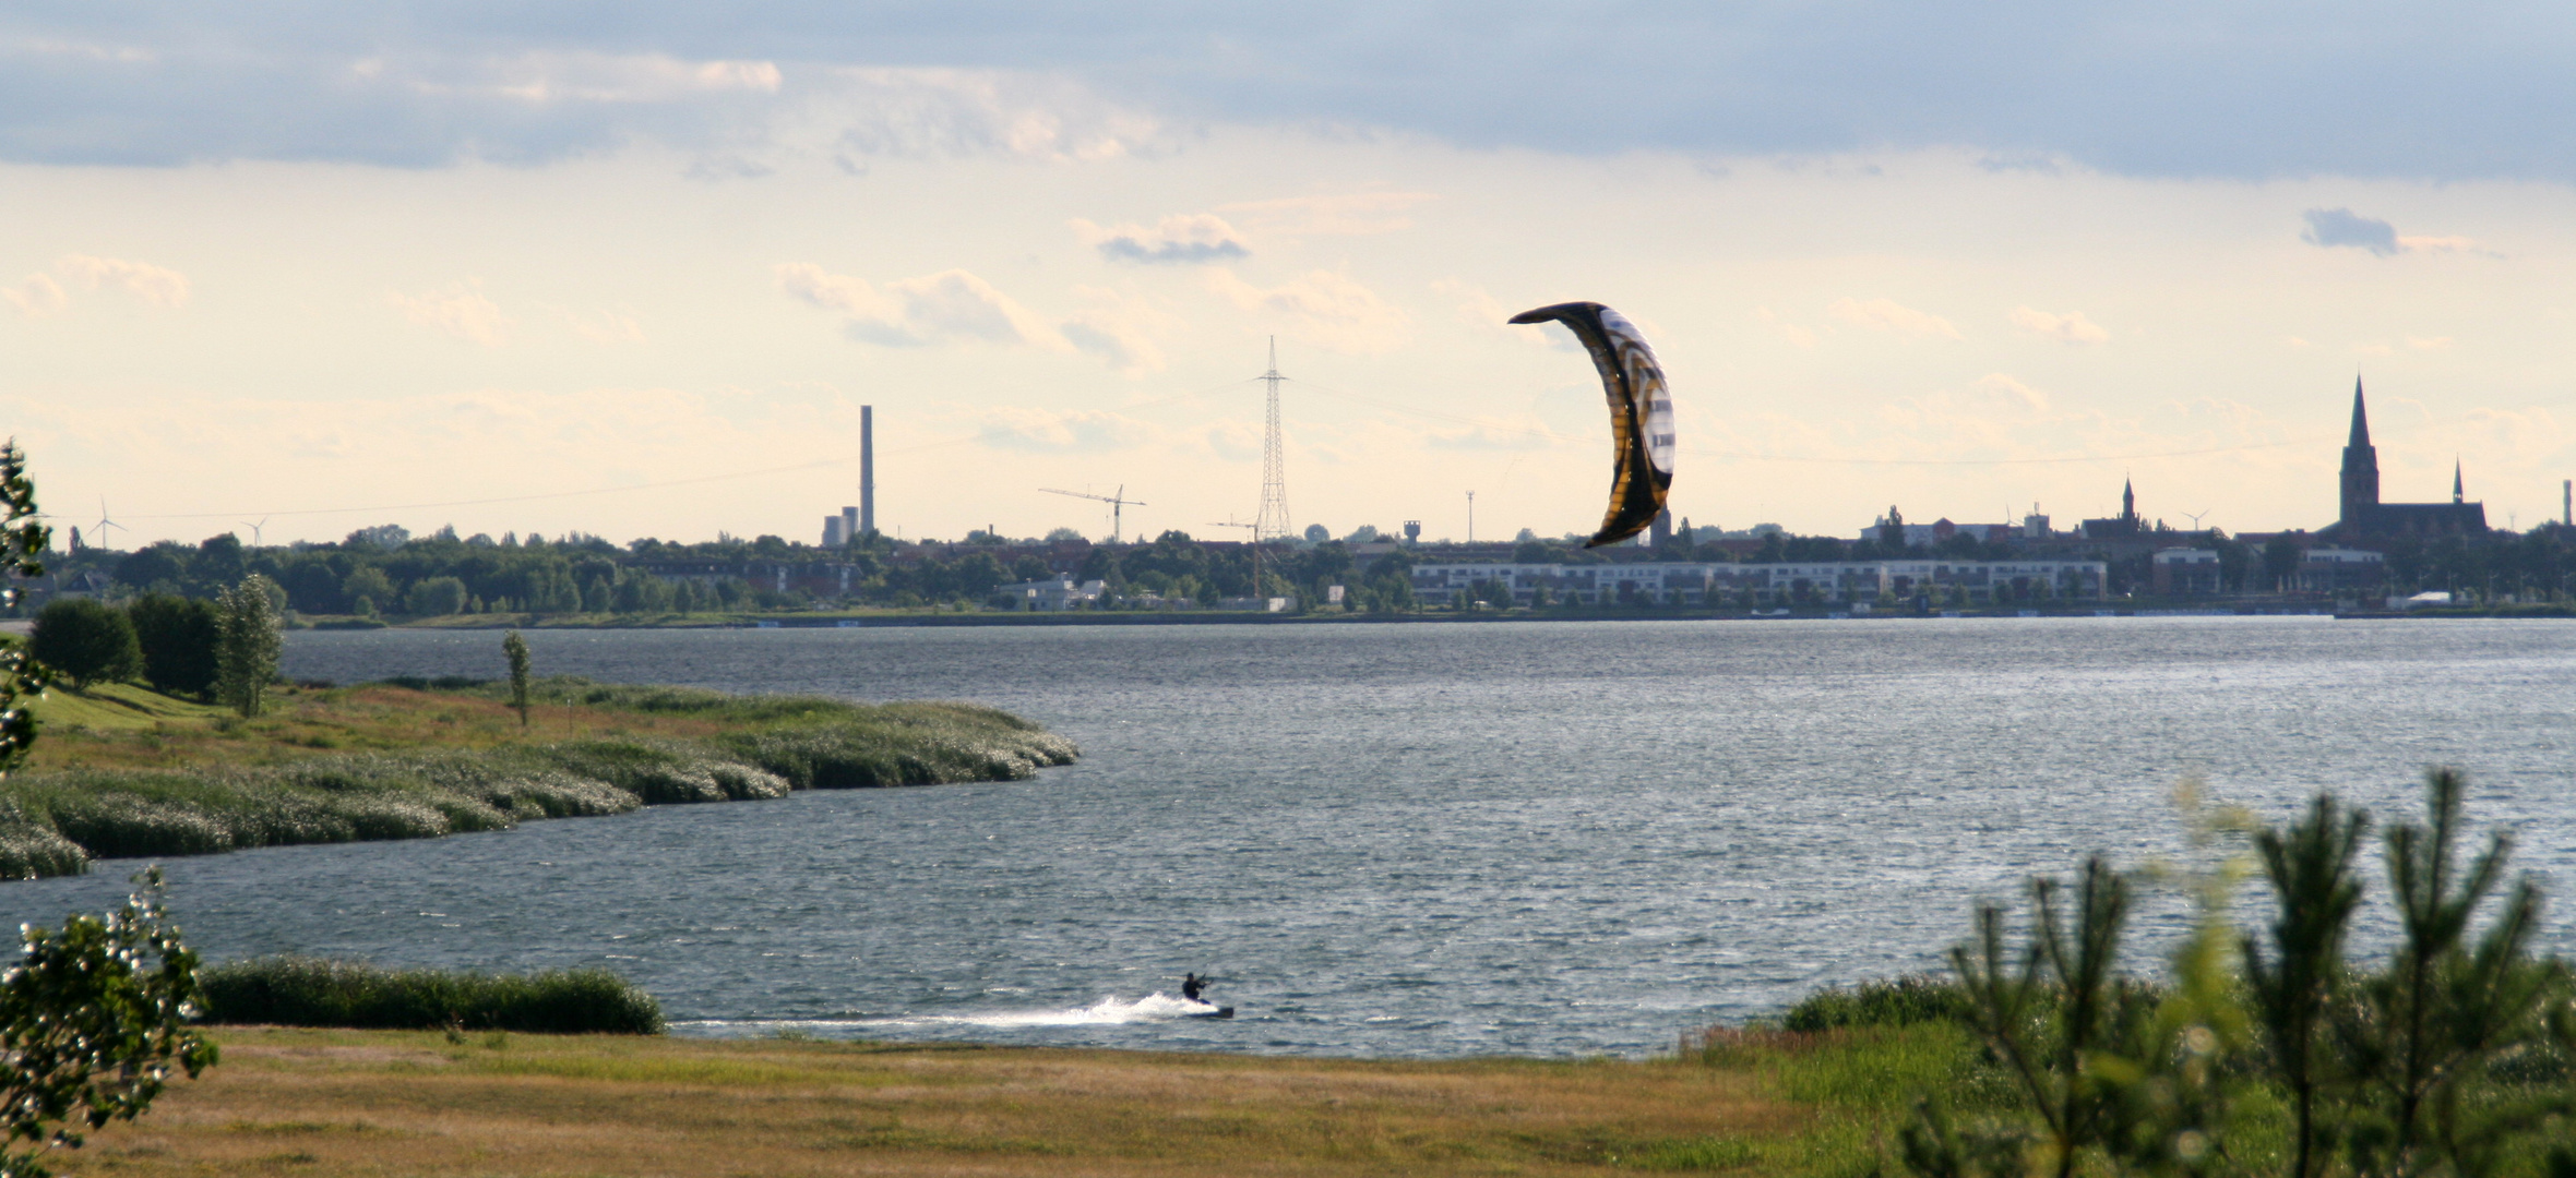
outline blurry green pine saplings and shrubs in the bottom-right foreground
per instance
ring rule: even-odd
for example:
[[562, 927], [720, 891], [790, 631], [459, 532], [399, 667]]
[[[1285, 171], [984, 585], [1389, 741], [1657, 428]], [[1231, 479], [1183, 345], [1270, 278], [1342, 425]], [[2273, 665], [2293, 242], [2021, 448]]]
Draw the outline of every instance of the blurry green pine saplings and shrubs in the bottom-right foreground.
[[1927, 1093], [1901, 1163], [1942, 1178], [2576, 1173], [2576, 977], [2532, 952], [2540, 887], [2506, 877], [2506, 833], [2468, 841], [2465, 795], [2434, 769], [2424, 820], [2380, 836], [2398, 913], [2383, 959], [2347, 954], [2372, 823], [2331, 795], [2251, 831], [2272, 890], [2259, 931], [2231, 926], [2233, 867], [2190, 880], [2200, 921], [2156, 990], [2120, 965], [2141, 880], [2102, 856], [2030, 880], [2020, 931], [1978, 905], [1950, 967], [2009, 1098]]

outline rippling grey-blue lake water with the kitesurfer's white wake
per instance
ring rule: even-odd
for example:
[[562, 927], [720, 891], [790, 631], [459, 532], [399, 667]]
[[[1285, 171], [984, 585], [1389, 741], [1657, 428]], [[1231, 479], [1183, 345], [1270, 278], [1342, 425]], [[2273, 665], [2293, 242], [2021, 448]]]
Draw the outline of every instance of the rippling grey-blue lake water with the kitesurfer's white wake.
[[[680, 1031], [1638, 1055], [1924, 970], [1976, 898], [2187, 854], [2174, 784], [2414, 815], [2427, 764], [2576, 893], [2576, 625], [2174, 620], [528, 633], [541, 671], [981, 700], [1036, 782], [811, 792], [167, 864], [214, 959], [605, 965]], [[500, 676], [497, 633], [286, 671]], [[0, 885], [10, 918], [134, 862]], [[2372, 864], [2372, 890], [2378, 869]], [[2182, 908], [2146, 905], [2143, 936]], [[2576, 949], [2563, 911], [2553, 949]], [[1185, 970], [1242, 1019], [1180, 1021]]]

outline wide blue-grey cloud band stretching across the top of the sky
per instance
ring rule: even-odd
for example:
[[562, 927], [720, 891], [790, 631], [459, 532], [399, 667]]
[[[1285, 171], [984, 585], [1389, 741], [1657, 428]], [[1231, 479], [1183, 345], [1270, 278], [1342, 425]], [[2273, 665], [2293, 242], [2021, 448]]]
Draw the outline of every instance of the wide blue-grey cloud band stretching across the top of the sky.
[[[2110, 0], [404, 13], [15, 5], [0, 15], [0, 157], [562, 159], [829, 121], [858, 131], [853, 147], [1095, 157], [1136, 141], [1105, 111], [1154, 111], [1131, 118], [1569, 154], [1968, 147], [2166, 177], [2576, 177], [2576, 126], [2494, 116], [2576, 105], [2576, 23], [2532, 0], [2329, 33], [2300, 5], [2159, 8], [2159, 28], [2187, 36], [2138, 36], [2136, 8]], [[935, 69], [961, 82], [933, 93]]]

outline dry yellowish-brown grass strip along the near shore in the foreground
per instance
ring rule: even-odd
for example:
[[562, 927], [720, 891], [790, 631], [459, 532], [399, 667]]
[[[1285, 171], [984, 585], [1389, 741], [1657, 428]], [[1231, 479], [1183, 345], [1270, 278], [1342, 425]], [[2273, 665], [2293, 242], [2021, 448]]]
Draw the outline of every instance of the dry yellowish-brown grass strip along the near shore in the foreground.
[[82, 1173], [1860, 1175], [1950, 1026], [1677, 1060], [219, 1029], [224, 1062]]

